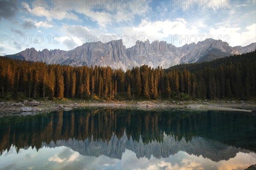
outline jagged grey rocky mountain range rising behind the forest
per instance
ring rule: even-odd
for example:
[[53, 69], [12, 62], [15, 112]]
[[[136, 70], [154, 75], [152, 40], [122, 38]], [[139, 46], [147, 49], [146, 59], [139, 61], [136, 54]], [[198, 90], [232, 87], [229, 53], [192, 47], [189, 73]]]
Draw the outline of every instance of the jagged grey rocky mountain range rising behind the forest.
[[231, 47], [227, 42], [207, 39], [176, 47], [166, 41], [157, 40], [150, 43], [146, 40], [137, 41], [131, 48], [125, 48], [122, 40], [116, 40], [107, 43], [87, 42], [70, 51], [59, 49], [37, 51], [35, 48], [27, 48], [5, 57], [71, 66], [99, 65], [130, 69], [135, 66], [149, 65], [153, 68], [158, 66], [169, 68], [173, 65], [211, 61], [255, 50], [256, 42], [244, 47]]

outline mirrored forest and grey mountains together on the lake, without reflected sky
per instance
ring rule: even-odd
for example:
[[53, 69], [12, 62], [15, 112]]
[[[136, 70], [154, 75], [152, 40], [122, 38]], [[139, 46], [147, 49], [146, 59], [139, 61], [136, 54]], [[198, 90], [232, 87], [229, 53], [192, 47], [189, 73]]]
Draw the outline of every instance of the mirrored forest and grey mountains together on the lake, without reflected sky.
[[[87, 109], [0, 119], [0, 150], [67, 146], [82, 155], [166, 158], [180, 150], [212, 161], [256, 152], [255, 116], [237, 112]], [[93, 137], [92, 137], [93, 136]]]

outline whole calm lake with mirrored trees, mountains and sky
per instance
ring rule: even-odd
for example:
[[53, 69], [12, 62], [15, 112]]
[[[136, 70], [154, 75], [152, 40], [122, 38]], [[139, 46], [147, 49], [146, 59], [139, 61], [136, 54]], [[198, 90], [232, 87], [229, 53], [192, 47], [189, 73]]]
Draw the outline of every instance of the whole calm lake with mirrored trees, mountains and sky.
[[78, 108], [0, 118], [0, 169], [244, 169], [256, 116]]

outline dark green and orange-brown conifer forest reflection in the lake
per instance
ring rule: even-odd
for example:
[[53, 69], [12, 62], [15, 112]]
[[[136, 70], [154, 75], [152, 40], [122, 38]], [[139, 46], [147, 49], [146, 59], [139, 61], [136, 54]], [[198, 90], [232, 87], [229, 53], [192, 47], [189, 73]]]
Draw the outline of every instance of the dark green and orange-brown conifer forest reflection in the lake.
[[[39, 149], [42, 142], [75, 139], [110, 142], [126, 133], [143, 144], [163, 142], [163, 134], [177, 141], [191, 142], [193, 136], [249, 150], [256, 150], [255, 116], [247, 113], [208, 111], [134, 111], [125, 109], [84, 109], [47, 115], [6, 117], [0, 120], [0, 150], [15, 145]], [[246, 133], [244, 130], [246, 129]], [[244, 139], [247, 139], [245, 142]], [[249, 141], [249, 142], [248, 142]]]

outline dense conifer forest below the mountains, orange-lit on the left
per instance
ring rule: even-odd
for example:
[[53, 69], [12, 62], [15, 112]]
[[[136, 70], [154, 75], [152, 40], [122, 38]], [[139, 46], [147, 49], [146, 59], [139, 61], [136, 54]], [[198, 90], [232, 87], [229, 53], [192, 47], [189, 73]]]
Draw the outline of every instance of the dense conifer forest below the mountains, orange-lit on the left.
[[256, 97], [256, 51], [168, 69], [47, 65], [0, 57], [1, 96], [62, 99], [250, 99]]

